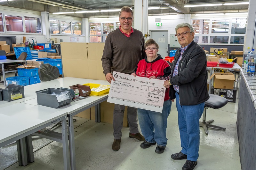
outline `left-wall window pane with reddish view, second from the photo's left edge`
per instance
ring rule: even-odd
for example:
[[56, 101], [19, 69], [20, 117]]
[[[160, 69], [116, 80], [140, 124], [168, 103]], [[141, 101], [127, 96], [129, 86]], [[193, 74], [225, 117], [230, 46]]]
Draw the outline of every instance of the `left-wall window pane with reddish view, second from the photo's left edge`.
[[23, 32], [22, 17], [13, 15], [4, 15], [6, 22], [6, 31]]

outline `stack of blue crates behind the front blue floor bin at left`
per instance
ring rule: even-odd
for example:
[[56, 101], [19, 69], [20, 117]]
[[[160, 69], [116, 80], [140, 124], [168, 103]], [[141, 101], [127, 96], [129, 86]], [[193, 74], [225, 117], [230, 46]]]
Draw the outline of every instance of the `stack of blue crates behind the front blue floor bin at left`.
[[40, 83], [40, 78], [38, 76], [38, 68], [34, 69], [21, 69], [18, 68], [18, 75], [19, 77], [26, 77], [29, 80], [28, 85], [33, 85], [36, 83]]

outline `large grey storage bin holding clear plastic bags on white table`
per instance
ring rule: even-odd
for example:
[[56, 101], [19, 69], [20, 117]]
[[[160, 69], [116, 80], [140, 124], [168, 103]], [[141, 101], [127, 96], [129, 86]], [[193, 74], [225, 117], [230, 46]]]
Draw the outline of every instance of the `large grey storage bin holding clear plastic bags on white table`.
[[68, 105], [72, 101], [70, 91], [68, 91], [69, 99], [58, 102], [57, 97], [52, 95], [53, 92], [60, 94], [61, 92], [66, 92], [67, 90], [60, 90], [54, 88], [48, 88], [44, 90], [36, 91], [37, 104], [52, 108], [59, 108]]

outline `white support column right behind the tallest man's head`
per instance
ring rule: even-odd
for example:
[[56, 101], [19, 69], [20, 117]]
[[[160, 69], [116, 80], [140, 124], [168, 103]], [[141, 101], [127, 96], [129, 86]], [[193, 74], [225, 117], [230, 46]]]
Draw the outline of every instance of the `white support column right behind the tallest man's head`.
[[148, 0], [134, 1], [134, 28], [148, 33]]

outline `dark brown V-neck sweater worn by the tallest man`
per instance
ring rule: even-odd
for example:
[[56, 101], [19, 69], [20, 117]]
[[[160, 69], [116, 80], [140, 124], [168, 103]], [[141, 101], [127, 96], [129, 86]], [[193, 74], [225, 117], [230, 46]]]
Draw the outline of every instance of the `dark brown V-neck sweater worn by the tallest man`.
[[126, 37], [119, 28], [108, 34], [101, 58], [105, 75], [113, 71], [131, 74], [139, 61], [145, 58], [143, 34], [132, 29], [130, 37]]

